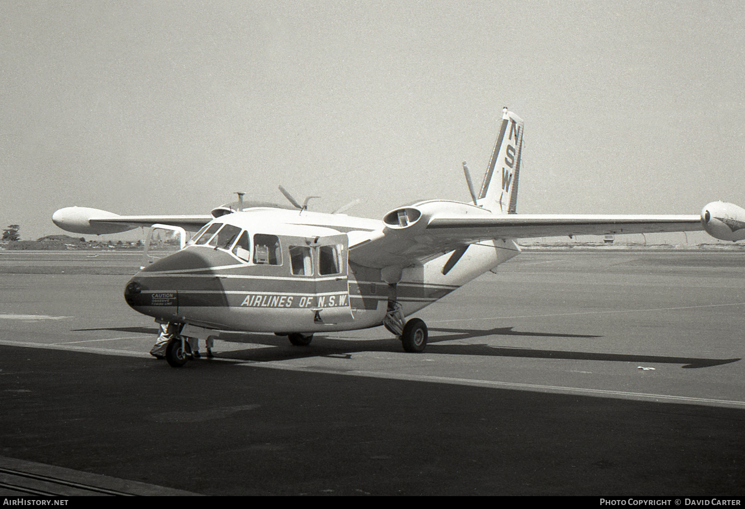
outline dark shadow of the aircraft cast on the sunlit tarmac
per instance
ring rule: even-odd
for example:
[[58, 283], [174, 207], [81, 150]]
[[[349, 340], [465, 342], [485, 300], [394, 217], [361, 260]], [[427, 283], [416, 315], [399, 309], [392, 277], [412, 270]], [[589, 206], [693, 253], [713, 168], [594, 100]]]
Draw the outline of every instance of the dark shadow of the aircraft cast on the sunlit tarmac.
[[[153, 339], [158, 332], [155, 328], [148, 327], [104, 327], [101, 329], [83, 330], [117, 330], [133, 333], [152, 333]], [[538, 336], [559, 338], [599, 338], [589, 334], [564, 334], [564, 333], [536, 333], [513, 330], [513, 327], [496, 327], [493, 329], [444, 329], [430, 328], [431, 331], [451, 333], [446, 336], [430, 336], [427, 352], [428, 354], [450, 354], [450, 355], [473, 355], [473, 356], [501, 356], [501, 357], [524, 357], [536, 359], [568, 359], [568, 360], [599, 360], [612, 362], [639, 362], [639, 363], [662, 363], [682, 364], [682, 368], [708, 368], [711, 366], [737, 362], [737, 359], [698, 359], [695, 357], [654, 356], [635, 355], [627, 353], [596, 353], [579, 352], [571, 350], [536, 350], [533, 348], [501, 347], [481, 344], [448, 344], [441, 342], [454, 339], [470, 339], [484, 336]], [[254, 345], [265, 345], [266, 348], [247, 348], [244, 350], [220, 351], [215, 348], [216, 356], [223, 359], [235, 359], [248, 362], [272, 362], [290, 359], [303, 359], [308, 357], [332, 356], [350, 358], [353, 353], [358, 352], [390, 352], [399, 351], [396, 342], [390, 337], [384, 339], [370, 339], [364, 341], [350, 341], [332, 336], [316, 334], [312, 345], [308, 347], [297, 347], [289, 344], [286, 337], [273, 336], [270, 334], [250, 333], [221, 333], [221, 340], [234, 343], [253, 343]]]

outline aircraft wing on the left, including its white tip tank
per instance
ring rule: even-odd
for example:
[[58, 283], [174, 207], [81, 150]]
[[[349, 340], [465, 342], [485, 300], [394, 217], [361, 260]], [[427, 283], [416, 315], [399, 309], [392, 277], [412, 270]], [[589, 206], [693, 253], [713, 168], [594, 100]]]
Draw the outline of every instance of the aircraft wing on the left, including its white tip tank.
[[121, 231], [151, 226], [157, 223], [180, 226], [185, 230], [198, 230], [213, 220], [210, 214], [193, 216], [120, 216], [98, 208], [66, 207], [52, 215], [54, 224], [66, 231], [80, 234], [113, 234]]

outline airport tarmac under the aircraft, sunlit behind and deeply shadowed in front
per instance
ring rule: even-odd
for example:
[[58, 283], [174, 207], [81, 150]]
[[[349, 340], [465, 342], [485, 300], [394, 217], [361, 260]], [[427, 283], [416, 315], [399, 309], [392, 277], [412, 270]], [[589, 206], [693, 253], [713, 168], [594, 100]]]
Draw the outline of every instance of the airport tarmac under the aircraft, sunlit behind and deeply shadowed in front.
[[124, 302], [141, 256], [0, 252], [0, 495], [745, 494], [741, 254], [524, 253], [417, 313], [424, 353], [178, 369]]

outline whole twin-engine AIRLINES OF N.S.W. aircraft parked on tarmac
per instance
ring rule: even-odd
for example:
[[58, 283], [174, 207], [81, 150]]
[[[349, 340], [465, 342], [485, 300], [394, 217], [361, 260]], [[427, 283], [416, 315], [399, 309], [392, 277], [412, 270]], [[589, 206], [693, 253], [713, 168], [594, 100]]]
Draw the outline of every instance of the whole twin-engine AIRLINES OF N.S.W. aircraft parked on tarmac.
[[[143, 267], [124, 290], [134, 310], [183, 327], [168, 344], [173, 366], [191, 354], [185, 337], [221, 330], [273, 332], [308, 345], [316, 332], [384, 325], [404, 350], [421, 352], [427, 326], [407, 317], [519, 254], [515, 240], [524, 237], [704, 229], [745, 239], [745, 210], [723, 202], [700, 216], [516, 214], [522, 135], [523, 121], [505, 108], [478, 195], [463, 164], [472, 203], [428, 200], [382, 221], [308, 211], [308, 199], [300, 205], [281, 186], [292, 208], [244, 203], [239, 193], [236, 208], [210, 215], [69, 207], [52, 220], [80, 234], [140, 226], [179, 232], [182, 249]], [[185, 230], [198, 230], [188, 243]]]

